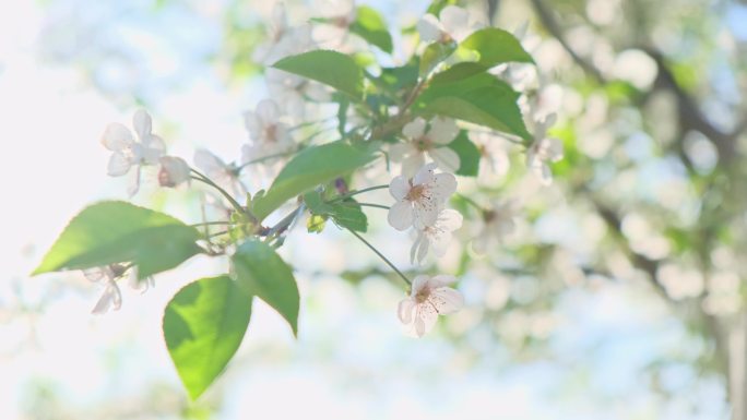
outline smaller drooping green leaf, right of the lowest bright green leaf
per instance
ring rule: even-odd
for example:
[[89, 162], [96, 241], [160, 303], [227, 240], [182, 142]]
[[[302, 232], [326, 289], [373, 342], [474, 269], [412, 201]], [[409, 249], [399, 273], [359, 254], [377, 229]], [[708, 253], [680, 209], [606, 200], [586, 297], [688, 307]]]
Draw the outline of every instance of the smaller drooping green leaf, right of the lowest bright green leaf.
[[264, 242], [244, 242], [230, 257], [239, 286], [265, 301], [290, 324], [298, 334], [300, 298], [290, 267]]

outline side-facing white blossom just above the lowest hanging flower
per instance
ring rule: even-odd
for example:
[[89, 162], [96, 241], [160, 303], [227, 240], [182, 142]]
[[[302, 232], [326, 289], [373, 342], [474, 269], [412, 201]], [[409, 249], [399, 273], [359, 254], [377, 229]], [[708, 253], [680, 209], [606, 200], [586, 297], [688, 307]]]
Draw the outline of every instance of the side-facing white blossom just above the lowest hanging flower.
[[443, 256], [451, 242], [451, 232], [461, 228], [462, 221], [461, 213], [446, 208], [438, 214], [438, 218], [432, 226], [415, 223], [417, 238], [410, 250], [410, 261], [415, 262], [415, 259], [417, 259], [418, 263], [423, 263], [428, 250], [432, 250], [436, 256]]

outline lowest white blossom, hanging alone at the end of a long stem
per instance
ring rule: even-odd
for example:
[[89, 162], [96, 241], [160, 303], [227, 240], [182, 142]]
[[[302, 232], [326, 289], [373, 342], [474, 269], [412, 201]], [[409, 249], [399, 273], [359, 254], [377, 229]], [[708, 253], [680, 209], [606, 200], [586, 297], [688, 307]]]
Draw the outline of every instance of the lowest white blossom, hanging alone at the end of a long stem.
[[456, 278], [448, 275], [415, 277], [410, 296], [402, 300], [398, 308], [405, 334], [423, 337], [436, 325], [438, 315], [447, 315], [462, 309], [462, 293], [448, 287], [454, 281]]

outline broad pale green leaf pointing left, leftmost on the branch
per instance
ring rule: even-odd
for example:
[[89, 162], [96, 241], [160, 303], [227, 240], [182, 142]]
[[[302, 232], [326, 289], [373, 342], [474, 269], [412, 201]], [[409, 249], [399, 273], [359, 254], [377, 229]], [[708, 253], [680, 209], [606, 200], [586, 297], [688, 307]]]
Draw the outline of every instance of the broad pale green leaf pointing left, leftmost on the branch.
[[199, 237], [195, 228], [163, 213], [102, 202], [70, 221], [33, 275], [132, 262], [145, 278], [201, 252]]

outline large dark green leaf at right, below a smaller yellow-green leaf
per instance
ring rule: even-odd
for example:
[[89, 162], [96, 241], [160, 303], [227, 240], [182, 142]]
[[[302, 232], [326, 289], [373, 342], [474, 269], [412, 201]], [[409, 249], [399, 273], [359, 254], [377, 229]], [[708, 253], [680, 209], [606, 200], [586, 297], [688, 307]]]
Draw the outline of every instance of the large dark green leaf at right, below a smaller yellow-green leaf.
[[521, 110], [519, 94], [506, 82], [488, 73], [462, 80], [435, 80], [415, 101], [419, 113], [436, 113], [474, 122], [531, 140]]

